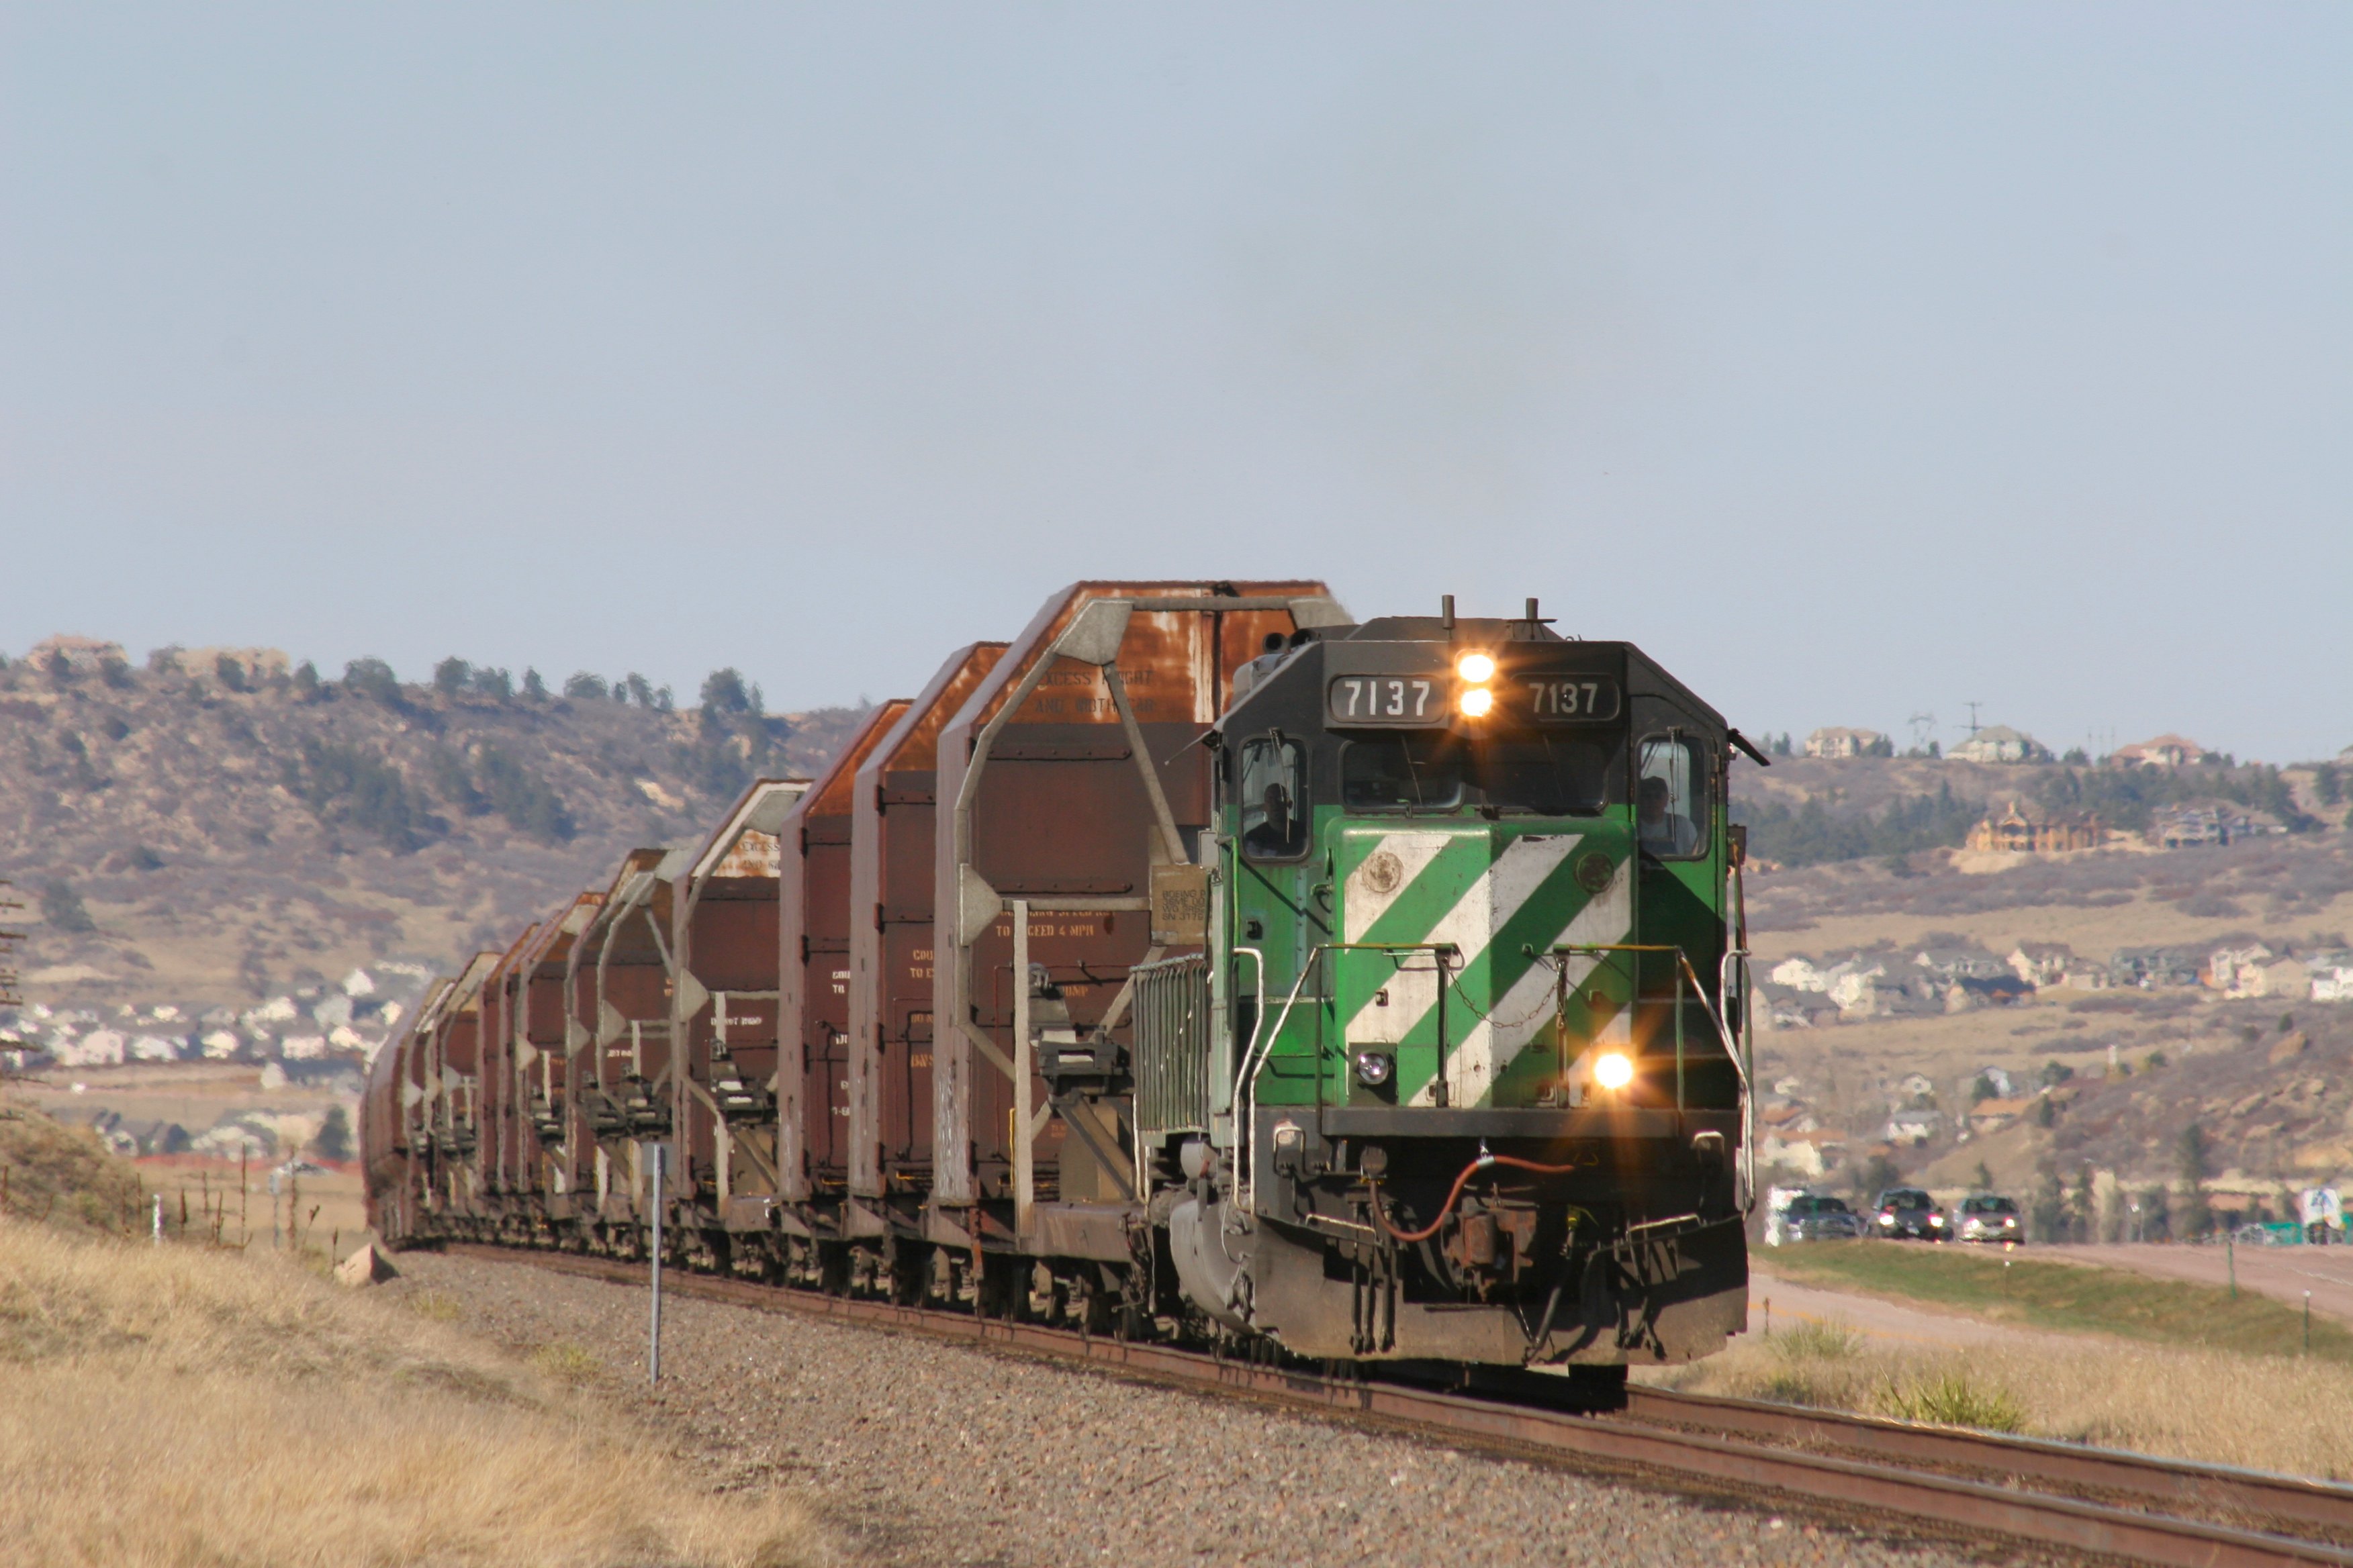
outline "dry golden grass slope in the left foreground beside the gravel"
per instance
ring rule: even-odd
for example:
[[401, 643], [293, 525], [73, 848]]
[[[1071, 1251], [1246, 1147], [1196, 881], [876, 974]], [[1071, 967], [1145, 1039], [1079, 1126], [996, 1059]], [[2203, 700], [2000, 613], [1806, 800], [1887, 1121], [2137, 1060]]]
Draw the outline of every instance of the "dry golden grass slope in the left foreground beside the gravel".
[[[0, 1220], [0, 1542], [64, 1566], [711, 1566], [819, 1556], [572, 1392], [268, 1258]], [[588, 1368], [593, 1371], [593, 1368]]]

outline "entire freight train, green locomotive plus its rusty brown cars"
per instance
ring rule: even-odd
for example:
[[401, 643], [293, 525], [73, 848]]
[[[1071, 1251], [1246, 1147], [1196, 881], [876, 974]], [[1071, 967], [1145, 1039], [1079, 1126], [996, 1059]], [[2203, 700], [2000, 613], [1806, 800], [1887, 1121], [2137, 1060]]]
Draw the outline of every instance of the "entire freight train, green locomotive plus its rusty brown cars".
[[642, 1255], [664, 1143], [675, 1260], [776, 1284], [1605, 1387], [1708, 1354], [1753, 1206], [1734, 752], [1534, 602], [1073, 585], [449, 983], [369, 1079], [376, 1222]]

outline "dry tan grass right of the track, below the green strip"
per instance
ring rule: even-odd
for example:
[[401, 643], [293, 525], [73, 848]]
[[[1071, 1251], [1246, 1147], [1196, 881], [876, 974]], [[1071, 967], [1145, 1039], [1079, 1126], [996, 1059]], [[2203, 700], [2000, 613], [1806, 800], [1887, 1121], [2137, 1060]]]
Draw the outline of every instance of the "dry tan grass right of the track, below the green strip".
[[2082, 1347], [1885, 1347], [1838, 1324], [1748, 1338], [1642, 1382], [1866, 1415], [2019, 1429], [2212, 1465], [2353, 1479], [2353, 1368], [2085, 1338]]

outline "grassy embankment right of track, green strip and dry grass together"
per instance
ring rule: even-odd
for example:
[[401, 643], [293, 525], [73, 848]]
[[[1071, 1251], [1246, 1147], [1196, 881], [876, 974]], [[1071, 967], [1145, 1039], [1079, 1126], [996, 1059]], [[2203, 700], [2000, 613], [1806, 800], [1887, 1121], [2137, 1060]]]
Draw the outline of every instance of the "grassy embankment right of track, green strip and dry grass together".
[[[1927, 1246], [1784, 1248], [1772, 1267], [1814, 1286], [1934, 1302], [2078, 1342], [1974, 1349], [1866, 1340], [1838, 1321], [1777, 1316], [1708, 1361], [1645, 1382], [1861, 1410], [2139, 1453], [2353, 1479], [2353, 1335], [2282, 1302], [2122, 1269]], [[1760, 1295], [1769, 1284], [1758, 1281]], [[1758, 1324], [1762, 1328], [1762, 1324]]]

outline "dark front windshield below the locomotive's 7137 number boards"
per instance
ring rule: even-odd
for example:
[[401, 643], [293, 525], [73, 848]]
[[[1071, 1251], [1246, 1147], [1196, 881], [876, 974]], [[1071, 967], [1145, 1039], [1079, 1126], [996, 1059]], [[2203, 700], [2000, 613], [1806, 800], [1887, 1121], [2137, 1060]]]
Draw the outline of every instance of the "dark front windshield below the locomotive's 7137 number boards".
[[1452, 811], [1466, 792], [1494, 811], [1595, 816], [1612, 797], [1617, 745], [1567, 736], [1391, 733], [1351, 741], [1339, 759], [1348, 811]]

